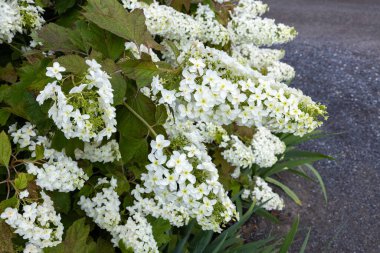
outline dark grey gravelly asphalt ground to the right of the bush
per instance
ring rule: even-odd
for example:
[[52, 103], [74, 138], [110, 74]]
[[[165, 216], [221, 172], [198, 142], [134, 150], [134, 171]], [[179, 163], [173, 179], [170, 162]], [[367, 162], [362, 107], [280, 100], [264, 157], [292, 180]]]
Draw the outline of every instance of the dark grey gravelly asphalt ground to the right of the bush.
[[[328, 203], [317, 185], [293, 176], [282, 181], [303, 200], [289, 199], [282, 225], [259, 221], [253, 236], [284, 232], [299, 214], [298, 252], [312, 227], [306, 252], [380, 252], [380, 1], [268, 0], [268, 17], [293, 25], [298, 38], [285, 46], [285, 62], [297, 76], [293, 87], [327, 105], [324, 130], [338, 133], [305, 149], [336, 158], [316, 164]], [[248, 232], [249, 233], [249, 229]]]

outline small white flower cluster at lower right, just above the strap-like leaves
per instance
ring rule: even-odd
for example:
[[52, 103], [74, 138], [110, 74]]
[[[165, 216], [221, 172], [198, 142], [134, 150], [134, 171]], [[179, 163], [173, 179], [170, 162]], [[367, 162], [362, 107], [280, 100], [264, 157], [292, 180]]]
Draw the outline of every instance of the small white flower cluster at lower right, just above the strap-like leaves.
[[284, 200], [261, 177], [254, 177], [253, 190], [245, 189], [241, 195], [243, 199], [256, 201], [262, 208], [272, 210], [284, 209]]

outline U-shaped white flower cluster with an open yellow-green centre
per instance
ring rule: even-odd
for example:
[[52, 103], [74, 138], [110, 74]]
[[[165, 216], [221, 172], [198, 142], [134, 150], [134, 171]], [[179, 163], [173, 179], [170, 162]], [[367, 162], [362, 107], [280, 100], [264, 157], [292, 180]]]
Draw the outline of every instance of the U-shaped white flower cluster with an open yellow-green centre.
[[[57, 81], [62, 80], [61, 72], [66, 69], [58, 62], [48, 67], [46, 75], [56, 81], [49, 83], [37, 97], [39, 104], [52, 99], [49, 117], [65, 134], [66, 138], [78, 137], [85, 142], [108, 139], [116, 132], [116, 109], [113, 104], [113, 89], [110, 76], [101, 70], [95, 60], [86, 60], [89, 69], [81, 84], [74, 86], [68, 95]], [[96, 89], [93, 89], [93, 88]]]

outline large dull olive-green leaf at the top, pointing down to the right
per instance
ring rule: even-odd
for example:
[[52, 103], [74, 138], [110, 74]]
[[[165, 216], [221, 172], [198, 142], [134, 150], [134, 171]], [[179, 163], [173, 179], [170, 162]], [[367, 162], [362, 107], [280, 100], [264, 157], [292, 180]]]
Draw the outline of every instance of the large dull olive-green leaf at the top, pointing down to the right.
[[83, 15], [89, 21], [121, 38], [133, 41], [137, 45], [161, 48], [149, 34], [143, 10], [136, 9], [128, 13], [115, 0], [89, 0], [84, 10]]

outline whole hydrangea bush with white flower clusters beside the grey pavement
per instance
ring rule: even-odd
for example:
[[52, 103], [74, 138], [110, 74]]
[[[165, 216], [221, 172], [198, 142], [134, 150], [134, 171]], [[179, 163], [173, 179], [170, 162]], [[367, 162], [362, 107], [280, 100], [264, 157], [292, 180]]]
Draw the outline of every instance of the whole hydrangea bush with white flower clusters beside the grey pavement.
[[[1, 252], [286, 252], [245, 243], [326, 107], [261, 1], [0, 0]], [[310, 173], [312, 175], [310, 175]], [[281, 193], [282, 190], [282, 193]]]

